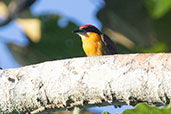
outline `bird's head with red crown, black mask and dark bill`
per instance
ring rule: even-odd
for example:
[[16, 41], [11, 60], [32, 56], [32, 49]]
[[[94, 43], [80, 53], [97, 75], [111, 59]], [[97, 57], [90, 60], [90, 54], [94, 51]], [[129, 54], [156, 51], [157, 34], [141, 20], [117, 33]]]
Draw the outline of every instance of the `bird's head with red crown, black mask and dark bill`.
[[78, 30], [74, 30], [73, 32], [81, 36], [81, 38], [85, 36], [87, 37], [90, 33], [96, 33], [98, 35], [101, 34], [95, 26], [90, 24], [82, 25]]

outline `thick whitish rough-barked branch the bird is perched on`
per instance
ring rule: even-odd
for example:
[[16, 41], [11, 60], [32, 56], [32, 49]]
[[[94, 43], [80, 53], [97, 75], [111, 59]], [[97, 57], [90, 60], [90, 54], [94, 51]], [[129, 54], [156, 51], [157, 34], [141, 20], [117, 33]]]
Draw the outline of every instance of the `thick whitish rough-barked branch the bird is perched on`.
[[0, 70], [0, 99], [1, 113], [164, 105], [171, 99], [171, 54], [83, 57]]

